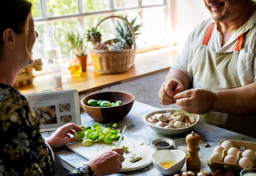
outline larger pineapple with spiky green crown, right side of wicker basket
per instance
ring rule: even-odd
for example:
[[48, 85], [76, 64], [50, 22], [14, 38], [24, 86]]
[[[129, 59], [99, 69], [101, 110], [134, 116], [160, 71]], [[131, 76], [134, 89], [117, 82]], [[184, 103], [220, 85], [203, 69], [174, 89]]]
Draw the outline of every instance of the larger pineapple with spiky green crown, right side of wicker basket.
[[[127, 16], [124, 18], [127, 20]], [[136, 18], [132, 19], [130, 24], [132, 25], [134, 30], [134, 35], [136, 36], [140, 34], [138, 30], [142, 24], [134, 26], [135, 21], [136, 21]], [[120, 42], [122, 42], [122, 44], [120, 44]], [[132, 48], [132, 44], [133, 44], [132, 32], [130, 30], [129, 25], [125, 21], [123, 21], [123, 23], [120, 23], [117, 21], [116, 39], [115, 39], [115, 45], [113, 46], [113, 50], [130, 49]]]

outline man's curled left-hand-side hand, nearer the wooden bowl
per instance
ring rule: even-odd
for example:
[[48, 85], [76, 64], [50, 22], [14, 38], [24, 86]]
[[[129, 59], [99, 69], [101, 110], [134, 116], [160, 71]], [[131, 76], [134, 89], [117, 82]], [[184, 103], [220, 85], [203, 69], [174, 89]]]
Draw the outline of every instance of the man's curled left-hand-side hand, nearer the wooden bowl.
[[159, 90], [159, 101], [163, 105], [170, 105], [176, 103], [176, 99], [174, 99], [174, 95], [180, 93], [184, 90], [183, 85], [175, 80], [167, 80], [165, 81]]

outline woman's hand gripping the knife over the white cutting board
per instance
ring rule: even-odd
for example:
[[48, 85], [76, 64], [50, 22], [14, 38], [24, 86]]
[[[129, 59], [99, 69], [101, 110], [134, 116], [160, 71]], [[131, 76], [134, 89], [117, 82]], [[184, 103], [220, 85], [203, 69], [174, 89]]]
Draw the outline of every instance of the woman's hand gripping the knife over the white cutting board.
[[124, 149], [111, 148], [100, 156], [89, 160], [86, 165], [89, 165], [95, 172], [95, 175], [110, 175], [118, 173], [124, 162]]

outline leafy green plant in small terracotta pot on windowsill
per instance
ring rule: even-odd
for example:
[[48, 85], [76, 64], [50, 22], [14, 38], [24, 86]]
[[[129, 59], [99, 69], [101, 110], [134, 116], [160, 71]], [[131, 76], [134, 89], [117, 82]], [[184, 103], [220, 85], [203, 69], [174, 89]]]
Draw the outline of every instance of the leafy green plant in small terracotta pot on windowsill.
[[86, 71], [87, 54], [84, 39], [77, 33], [67, 33], [68, 47], [76, 53], [77, 59], [81, 62], [82, 71]]

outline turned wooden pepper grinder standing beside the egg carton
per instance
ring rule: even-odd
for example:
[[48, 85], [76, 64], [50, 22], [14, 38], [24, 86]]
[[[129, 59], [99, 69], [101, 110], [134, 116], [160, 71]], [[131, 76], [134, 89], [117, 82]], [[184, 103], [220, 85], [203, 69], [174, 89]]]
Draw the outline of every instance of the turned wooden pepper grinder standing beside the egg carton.
[[201, 169], [201, 160], [198, 155], [201, 137], [192, 131], [191, 134], [186, 136], [186, 142], [188, 144], [188, 158], [186, 161], [187, 171], [192, 171], [196, 175], [196, 173], [200, 172]]

